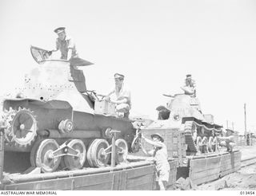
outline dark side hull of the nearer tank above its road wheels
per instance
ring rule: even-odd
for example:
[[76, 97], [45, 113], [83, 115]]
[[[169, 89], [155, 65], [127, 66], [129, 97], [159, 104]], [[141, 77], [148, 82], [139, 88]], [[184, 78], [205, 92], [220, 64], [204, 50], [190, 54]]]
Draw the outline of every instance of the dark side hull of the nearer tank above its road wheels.
[[[18, 147], [18, 145], [7, 143], [6, 151], [31, 151], [35, 141], [42, 138], [40, 131], [48, 131], [44, 138], [56, 139], [59, 144], [64, 143], [66, 139], [81, 139], [86, 146], [89, 145], [92, 139], [96, 138], [104, 138], [110, 142], [110, 138], [106, 135], [107, 128], [120, 131], [117, 133], [116, 139], [126, 139], [128, 145], [134, 137], [135, 130], [131, 120], [74, 111], [70, 104], [65, 101], [6, 100], [4, 109], [9, 111], [10, 108], [15, 111], [18, 111], [19, 108], [30, 110], [37, 121], [38, 136], [31, 145], [26, 147]], [[73, 131], [68, 133], [60, 131], [58, 126], [62, 120], [71, 120], [74, 125]]]

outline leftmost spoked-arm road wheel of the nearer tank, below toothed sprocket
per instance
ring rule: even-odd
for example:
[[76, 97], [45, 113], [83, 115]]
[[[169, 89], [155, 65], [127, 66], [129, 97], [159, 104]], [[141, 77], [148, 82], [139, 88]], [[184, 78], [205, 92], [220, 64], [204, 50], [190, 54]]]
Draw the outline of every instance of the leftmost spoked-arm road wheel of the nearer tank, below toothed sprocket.
[[58, 168], [61, 162], [61, 151], [53, 154], [58, 149], [58, 143], [54, 139], [45, 139], [38, 146], [36, 153], [36, 166], [40, 167], [42, 172], [53, 172]]

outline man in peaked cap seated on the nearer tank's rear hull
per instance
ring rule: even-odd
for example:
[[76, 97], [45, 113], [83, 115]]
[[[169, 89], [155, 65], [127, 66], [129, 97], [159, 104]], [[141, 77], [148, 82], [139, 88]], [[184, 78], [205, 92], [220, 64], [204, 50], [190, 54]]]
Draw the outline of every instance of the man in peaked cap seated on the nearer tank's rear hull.
[[[108, 100], [116, 104], [116, 112], [119, 117], [128, 118], [130, 114], [130, 90], [124, 85], [124, 75], [120, 73], [114, 74], [115, 87], [104, 100]], [[110, 95], [114, 94], [114, 100], [110, 100]]]

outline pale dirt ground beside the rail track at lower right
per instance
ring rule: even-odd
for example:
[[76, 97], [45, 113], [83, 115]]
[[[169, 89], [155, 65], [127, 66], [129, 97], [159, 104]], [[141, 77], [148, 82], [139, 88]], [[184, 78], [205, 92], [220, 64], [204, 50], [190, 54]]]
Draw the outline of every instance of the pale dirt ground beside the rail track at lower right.
[[[256, 147], [238, 147], [242, 159], [256, 155]], [[239, 171], [228, 174], [214, 182], [202, 184], [198, 190], [256, 190], [256, 163], [242, 167]]]

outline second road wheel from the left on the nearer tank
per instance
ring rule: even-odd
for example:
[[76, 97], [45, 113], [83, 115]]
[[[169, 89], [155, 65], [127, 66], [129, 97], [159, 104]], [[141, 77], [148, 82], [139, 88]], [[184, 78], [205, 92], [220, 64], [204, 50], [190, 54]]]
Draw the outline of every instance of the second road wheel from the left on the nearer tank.
[[[65, 155], [63, 162], [69, 170], [78, 170], [83, 167], [86, 162], [86, 146], [80, 139], [72, 139], [67, 146], [78, 152], [78, 155]], [[69, 153], [69, 151], [67, 152]]]

